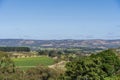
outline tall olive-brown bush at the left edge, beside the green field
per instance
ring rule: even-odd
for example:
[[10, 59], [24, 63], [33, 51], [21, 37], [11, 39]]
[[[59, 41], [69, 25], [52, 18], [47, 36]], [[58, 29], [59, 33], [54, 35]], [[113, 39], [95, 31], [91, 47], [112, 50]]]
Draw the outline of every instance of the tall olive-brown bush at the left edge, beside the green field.
[[15, 71], [14, 62], [9, 58], [9, 55], [5, 52], [0, 52], [0, 80], [9, 80], [7, 76], [14, 74]]

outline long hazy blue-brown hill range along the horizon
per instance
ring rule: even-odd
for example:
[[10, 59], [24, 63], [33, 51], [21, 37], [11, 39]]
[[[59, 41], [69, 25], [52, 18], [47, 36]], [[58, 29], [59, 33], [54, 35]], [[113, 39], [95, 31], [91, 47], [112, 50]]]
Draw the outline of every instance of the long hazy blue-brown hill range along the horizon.
[[71, 48], [71, 47], [91, 47], [91, 48], [117, 48], [120, 47], [120, 40], [27, 40], [27, 39], [0, 39], [0, 46], [27, 46], [31, 48]]

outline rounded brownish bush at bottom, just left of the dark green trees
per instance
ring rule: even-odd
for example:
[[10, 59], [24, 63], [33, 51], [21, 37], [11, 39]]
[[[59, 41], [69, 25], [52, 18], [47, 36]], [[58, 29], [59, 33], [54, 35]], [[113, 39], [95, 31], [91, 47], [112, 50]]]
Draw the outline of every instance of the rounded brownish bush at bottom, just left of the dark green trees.
[[29, 80], [56, 80], [58, 73], [50, 68], [38, 66], [31, 68], [26, 72], [26, 78]]

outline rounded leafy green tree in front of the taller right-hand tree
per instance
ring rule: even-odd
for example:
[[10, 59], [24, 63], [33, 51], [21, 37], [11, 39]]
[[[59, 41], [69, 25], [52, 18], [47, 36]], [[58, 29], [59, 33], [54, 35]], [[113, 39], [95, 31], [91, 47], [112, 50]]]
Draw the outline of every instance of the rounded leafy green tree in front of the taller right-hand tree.
[[70, 80], [102, 80], [105, 74], [99, 65], [89, 57], [69, 62], [66, 64], [66, 68], [65, 76], [70, 77]]

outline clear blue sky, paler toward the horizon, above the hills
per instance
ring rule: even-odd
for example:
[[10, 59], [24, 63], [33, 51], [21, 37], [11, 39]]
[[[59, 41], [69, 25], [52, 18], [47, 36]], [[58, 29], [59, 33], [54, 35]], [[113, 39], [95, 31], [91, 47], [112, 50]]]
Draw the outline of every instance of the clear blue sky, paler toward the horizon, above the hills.
[[120, 0], [0, 0], [0, 39], [120, 39]]

